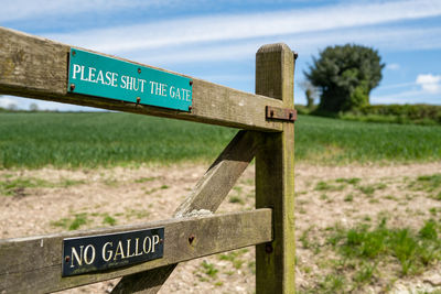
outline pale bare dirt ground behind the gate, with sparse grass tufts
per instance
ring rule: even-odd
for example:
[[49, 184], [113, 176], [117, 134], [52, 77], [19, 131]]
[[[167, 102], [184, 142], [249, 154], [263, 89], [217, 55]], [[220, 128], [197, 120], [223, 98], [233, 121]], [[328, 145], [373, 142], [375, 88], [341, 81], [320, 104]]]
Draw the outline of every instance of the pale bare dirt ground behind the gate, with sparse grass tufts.
[[[207, 166], [116, 167], [109, 170], [0, 171], [0, 238], [42, 235], [79, 228], [106, 227], [169, 218]], [[441, 162], [397, 166], [297, 165], [297, 284], [313, 288], [326, 271], [321, 253], [304, 246], [304, 232], [321, 243], [324, 231], [387, 217], [392, 227], [420, 228], [424, 220], [440, 221], [438, 189], [419, 186], [418, 177], [441, 173]], [[7, 185], [8, 184], [8, 185]], [[254, 166], [230, 192], [218, 211], [254, 207]], [[433, 195], [432, 195], [433, 194]], [[441, 194], [440, 194], [441, 195]], [[254, 248], [181, 264], [161, 293], [254, 293]], [[389, 291], [441, 287], [440, 266], [399, 279]], [[383, 276], [361, 292], [384, 291]], [[441, 279], [440, 279], [441, 281]], [[83, 286], [65, 293], [106, 293], [117, 281]], [[401, 292], [405, 291], [405, 292]]]

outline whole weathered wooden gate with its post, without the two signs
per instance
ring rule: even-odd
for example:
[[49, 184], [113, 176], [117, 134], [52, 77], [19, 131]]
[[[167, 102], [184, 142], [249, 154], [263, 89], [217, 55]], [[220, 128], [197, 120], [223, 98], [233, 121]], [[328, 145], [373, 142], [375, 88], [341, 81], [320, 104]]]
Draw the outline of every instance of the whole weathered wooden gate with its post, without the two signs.
[[[181, 111], [68, 90], [75, 48], [2, 28], [0, 40], [0, 94], [241, 129], [171, 219], [0, 240], [0, 293], [46, 293], [120, 276], [112, 293], [157, 293], [179, 262], [248, 246], [256, 246], [256, 292], [294, 292], [295, 58], [287, 45], [258, 50], [256, 95], [173, 73], [191, 80], [191, 108]], [[215, 215], [254, 157], [256, 209]], [[62, 276], [64, 240], [159, 227], [161, 258]]]

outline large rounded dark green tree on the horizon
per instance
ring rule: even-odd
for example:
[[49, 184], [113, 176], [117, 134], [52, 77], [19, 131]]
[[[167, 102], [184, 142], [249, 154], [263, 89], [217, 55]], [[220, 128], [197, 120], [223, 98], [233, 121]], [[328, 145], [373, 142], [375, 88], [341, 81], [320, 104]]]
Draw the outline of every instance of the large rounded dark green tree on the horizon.
[[370, 90], [381, 80], [381, 57], [378, 52], [361, 45], [326, 47], [313, 57], [306, 78], [321, 90], [319, 108], [337, 112], [369, 104]]

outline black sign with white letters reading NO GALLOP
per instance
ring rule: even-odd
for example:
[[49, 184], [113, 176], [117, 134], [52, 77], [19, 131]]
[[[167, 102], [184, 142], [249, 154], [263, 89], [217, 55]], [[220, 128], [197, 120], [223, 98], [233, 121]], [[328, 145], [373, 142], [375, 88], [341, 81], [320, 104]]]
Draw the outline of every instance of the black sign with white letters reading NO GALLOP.
[[63, 240], [63, 276], [126, 266], [164, 254], [164, 228]]

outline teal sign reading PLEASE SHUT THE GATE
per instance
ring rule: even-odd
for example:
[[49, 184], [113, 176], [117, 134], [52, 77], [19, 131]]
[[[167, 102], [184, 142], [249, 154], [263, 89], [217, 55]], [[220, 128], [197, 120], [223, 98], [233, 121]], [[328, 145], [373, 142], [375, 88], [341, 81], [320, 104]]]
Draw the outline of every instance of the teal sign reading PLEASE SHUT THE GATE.
[[186, 77], [71, 48], [69, 92], [190, 111], [192, 84]]

